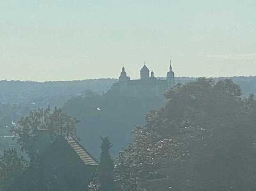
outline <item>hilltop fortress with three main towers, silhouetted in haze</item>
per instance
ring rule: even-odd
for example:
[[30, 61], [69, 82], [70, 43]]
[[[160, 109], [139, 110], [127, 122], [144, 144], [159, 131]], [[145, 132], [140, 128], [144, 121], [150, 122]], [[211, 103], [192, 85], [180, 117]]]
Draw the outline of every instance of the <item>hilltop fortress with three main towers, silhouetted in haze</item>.
[[140, 69], [140, 79], [131, 80], [123, 67], [118, 82], [113, 84], [109, 92], [129, 97], [152, 97], [163, 95], [167, 89], [175, 85], [171, 62], [166, 80], [157, 79], [153, 71], [151, 71], [150, 76], [149, 73], [148, 67], [144, 64]]

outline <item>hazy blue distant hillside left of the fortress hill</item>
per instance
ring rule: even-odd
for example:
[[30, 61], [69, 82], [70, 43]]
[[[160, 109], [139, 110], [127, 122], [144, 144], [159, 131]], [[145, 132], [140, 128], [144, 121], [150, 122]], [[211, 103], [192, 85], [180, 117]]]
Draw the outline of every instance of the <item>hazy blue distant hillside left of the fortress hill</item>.
[[59, 82], [0, 81], [0, 136], [30, 110], [48, 106], [62, 107], [71, 97], [86, 90], [107, 91], [115, 79]]

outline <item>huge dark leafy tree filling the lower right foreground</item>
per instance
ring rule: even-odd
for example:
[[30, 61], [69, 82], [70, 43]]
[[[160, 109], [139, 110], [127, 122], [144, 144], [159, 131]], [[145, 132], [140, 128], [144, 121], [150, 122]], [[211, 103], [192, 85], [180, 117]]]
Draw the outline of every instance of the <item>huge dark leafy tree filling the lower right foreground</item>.
[[256, 100], [231, 80], [199, 78], [166, 92], [117, 157], [123, 191], [251, 191], [256, 187]]

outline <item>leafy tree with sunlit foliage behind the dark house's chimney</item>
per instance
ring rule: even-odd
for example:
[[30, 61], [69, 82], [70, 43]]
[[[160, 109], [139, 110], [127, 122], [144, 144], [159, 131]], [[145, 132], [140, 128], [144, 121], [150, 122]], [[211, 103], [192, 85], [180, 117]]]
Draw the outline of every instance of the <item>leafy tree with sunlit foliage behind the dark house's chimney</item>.
[[[17, 127], [12, 128], [11, 131], [14, 133], [14, 139], [20, 145], [21, 150], [33, 159], [41, 149], [41, 144], [47, 145], [59, 135], [77, 138], [76, 124], [78, 122], [76, 118], [68, 116], [57, 107], [54, 107], [53, 110], [50, 107], [39, 108], [32, 110], [30, 115], [22, 117], [18, 121]], [[41, 133], [43, 130], [47, 131], [48, 138], [46, 138], [45, 133]], [[45, 140], [42, 140], [43, 137]], [[40, 140], [46, 142], [42, 143]]]

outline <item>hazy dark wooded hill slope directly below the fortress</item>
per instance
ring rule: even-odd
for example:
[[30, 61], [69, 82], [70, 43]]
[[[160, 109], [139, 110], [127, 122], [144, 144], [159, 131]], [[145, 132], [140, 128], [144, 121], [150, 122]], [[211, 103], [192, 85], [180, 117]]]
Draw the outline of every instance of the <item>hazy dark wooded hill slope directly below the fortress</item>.
[[130, 132], [137, 124], [143, 124], [146, 113], [164, 105], [164, 96], [135, 98], [86, 92], [84, 96], [69, 99], [63, 111], [81, 121], [77, 132], [92, 155], [100, 153], [95, 147], [100, 144], [95, 142], [100, 136], [107, 136], [115, 143], [111, 153], [116, 155], [131, 142]]

